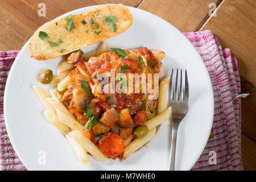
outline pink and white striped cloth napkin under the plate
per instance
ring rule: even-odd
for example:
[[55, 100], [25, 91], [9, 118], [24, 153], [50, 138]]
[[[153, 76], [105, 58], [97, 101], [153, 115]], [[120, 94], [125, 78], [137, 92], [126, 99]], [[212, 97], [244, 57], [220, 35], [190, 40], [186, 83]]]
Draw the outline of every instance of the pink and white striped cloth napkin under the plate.
[[[192, 170], [242, 170], [241, 99], [237, 59], [229, 49], [222, 49], [209, 30], [184, 33], [200, 53], [208, 69], [214, 90], [213, 138]], [[3, 119], [3, 92], [11, 64], [18, 51], [0, 51], [0, 168], [26, 170], [15, 154]], [[209, 163], [210, 151], [216, 152], [216, 164]], [[209, 155], [210, 152], [210, 155]]]

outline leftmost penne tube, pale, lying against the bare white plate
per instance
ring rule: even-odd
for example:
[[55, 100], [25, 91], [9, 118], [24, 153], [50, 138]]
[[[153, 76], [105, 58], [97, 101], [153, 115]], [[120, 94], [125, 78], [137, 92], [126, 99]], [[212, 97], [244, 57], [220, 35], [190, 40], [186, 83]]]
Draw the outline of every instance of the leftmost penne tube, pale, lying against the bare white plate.
[[33, 89], [38, 96], [39, 100], [42, 102], [44, 108], [52, 113], [55, 113], [55, 109], [46, 101], [46, 98], [49, 98], [46, 90], [44, 90], [41, 86], [33, 85]]

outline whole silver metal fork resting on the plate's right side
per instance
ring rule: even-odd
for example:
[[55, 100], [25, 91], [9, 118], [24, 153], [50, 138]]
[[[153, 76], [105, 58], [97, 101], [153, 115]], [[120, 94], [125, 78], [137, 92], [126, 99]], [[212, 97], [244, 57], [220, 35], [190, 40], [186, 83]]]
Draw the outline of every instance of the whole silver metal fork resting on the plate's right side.
[[[179, 78], [178, 78], [179, 77]], [[178, 89], [178, 85], [179, 89]], [[174, 87], [175, 86], [175, 87]], [[175, 169], [175, 151], [176, 151], [176, 140], [177, 140], [177, 129], [180, 122], [185, 117], [188, 112], [189, 104], [189, 93], [188, 93], [188, 75], [187, 70], [185, 70], [185, 89], [183, 92], [182, 83], [182, 69], [176, 72], [176, 80], [174, 85], [174, 68], [172, 68], [170, 82], [169, 82], [169, 93], [168, 93], [168, 106], [172, 107], [172, 138], [171, 138], [171, 154], [169, 170], [174, 171]]]

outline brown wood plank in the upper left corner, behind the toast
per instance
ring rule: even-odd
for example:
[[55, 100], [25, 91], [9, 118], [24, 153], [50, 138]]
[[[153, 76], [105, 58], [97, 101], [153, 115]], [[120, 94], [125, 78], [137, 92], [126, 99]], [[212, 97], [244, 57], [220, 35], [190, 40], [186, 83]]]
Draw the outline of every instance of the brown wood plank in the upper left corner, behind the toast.
[[[38, 16], [38, 4], [46, 4], [46, 17]], [[141, 0], [8, 0], [0, 4], [0, 50], [19, 50], [42, 24], [71, 10], [105, 3], [138, 6]]]

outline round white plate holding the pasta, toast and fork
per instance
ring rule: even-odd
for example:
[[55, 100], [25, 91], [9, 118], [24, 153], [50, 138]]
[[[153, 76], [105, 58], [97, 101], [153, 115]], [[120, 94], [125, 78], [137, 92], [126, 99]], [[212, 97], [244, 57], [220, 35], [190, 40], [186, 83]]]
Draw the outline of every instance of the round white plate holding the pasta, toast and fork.
[[[84, 7], [71, 11], [79, 14], [89, 10]], [[122, 34], [107, 40], [110, 47], [159, 49], [166, 52], [163, 65], [166, 73], [171, 68], [188, 70], [190, 104], [187, 116], [179, 126], [176, 148], [176, 169], [189, 170], [196, 163], [207, 143], [213, 121], [213, 90], [210, 78], [199, 53], [187, 38], [170, 23], [146, 11], [129, 7], [133, 25]], [[69, 13], [62, 15], [66, 16]], [[32, 85], [40, 83], [36, 76], [44, 69], [56, 71], [61, 57], [47, 61], [31, 58], [24, 45], [11, 67], [7, 79], [4, 111], [6, 127], [14, 150], [22, 163], [32, 170], [167, 170], [170, 154], [170, 121], [160, 126], [155, 138], [125, 162], [110, 159], [97, 162], [90, 157], [91, 166], [81, 164], [63, 135], [44, 118], [44, 108]], [[86, 47], [90, 51], [98, 44]], [[44, 86], [49, 89], [49, 87]], [[43, 153], [42, 153], [43, 151]], [[45, 153], [44, 153], [45, 152]], [[46, 154], [46, 164], [39, 162]]]

